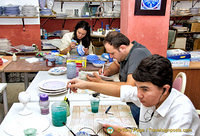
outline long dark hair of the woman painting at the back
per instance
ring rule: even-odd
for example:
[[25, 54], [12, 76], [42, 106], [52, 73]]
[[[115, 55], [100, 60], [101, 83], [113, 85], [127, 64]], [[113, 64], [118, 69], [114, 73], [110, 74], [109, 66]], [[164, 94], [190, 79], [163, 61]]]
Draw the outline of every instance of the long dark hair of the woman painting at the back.
[[[76, 32], [79, 28], [83, 28], [84, 30], [87, 31], [85, 37], [83, 37], [81, 40], [77, 38], [77, 34], [76, 34]], [[80, 41], [82, 41], [83, 46], [85, 48], [89, 48], [91, 37], [90, 37], [90, 25], [88, 22], [80, 21], [76, 24], [75, 29], [74, 29], [73, 39], [76, 40], [78, 43], [80, 43]]]

